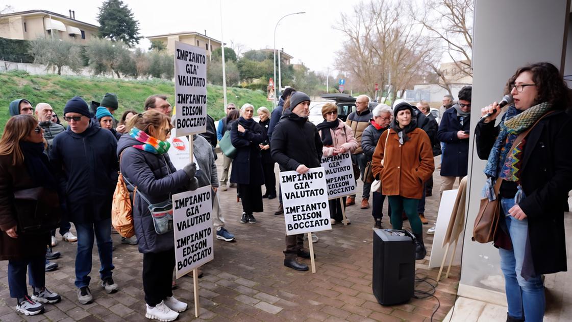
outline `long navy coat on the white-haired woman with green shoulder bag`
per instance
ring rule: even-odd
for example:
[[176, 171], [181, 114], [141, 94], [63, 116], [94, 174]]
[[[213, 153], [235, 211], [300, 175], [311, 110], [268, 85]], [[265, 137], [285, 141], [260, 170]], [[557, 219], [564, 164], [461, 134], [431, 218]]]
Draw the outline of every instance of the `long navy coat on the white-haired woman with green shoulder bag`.
[[264, 170], [260, 156], [259, 144], [267, 140], [262, 125], [252, 122], [252, 129], [239, 132], [239, 121], [232, 122], [231, 142], [236, 148], [235, 159], [232, 160], [231, 182], [238, 184], [264, 184]]

